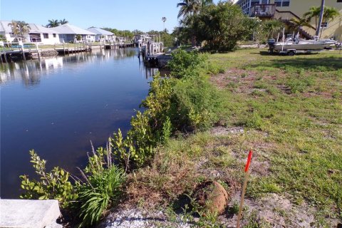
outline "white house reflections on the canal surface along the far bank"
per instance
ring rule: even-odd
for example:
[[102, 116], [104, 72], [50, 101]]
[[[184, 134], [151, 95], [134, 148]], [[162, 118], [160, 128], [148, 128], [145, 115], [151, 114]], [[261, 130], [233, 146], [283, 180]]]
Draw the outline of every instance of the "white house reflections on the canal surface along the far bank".
[[[56, 56], [53, 58], [43, 58], [41, 61], [20, 61], [14, 63], [2, 63], [0, 65], [0, 84], [9, 81], [21, 80], [25, 86], [35, 86], [40, 83], [41, 77], [58, 71], [63, 64], [72, 63], [93, 63], [98, 61], [108, 61], [108, 59], [120, 59], [137, 56], [137, 51], [133, 48], [118, 48], [114, 50], [95, 50], [93, 52], [74, 53], [67, 56]], [[145, 68], [142, 61], [139, 61], [140, 72], [146, 78], [157, 73], [156, 68]]]

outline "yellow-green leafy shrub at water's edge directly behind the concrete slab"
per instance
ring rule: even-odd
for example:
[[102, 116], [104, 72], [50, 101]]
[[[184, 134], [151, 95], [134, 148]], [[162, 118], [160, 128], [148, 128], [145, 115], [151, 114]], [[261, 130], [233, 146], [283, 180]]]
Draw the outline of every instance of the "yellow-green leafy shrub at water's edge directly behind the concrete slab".
[[21, 198], [58, 199], [62, 207], [68, 207], [78, 197], [69, 181], [70, 174], [60, 167], [53, 167], [50, 172], [46, 172], [46, 160], [41, 160], [34, 150], [30, 150], [30, 155], [40, 181], [29, 180], [26, 175], [21, 175], [21, 188], [25, 190]]

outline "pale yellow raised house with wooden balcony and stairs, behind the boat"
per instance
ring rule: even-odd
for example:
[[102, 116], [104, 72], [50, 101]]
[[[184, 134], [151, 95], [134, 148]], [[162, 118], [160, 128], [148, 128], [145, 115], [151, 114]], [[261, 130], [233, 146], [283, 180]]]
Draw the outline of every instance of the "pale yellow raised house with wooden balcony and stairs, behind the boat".
[[[239, 0], [237, 4], [248, 16], [261, 20], [279, 19], [289, 25], [291, 19], [303, 17], [311, 6], [321, 6], [321, 0]], [[336, 8], [341, 15], [333, 21], [322, 22], [321, 38], [342, 40], [342, 0], [326, 0], [326, 6]], [[311, 26], [299, 28], [299, 32], [301, 36], [312, 38], [316, 33], [316, 20], [311, 20]]]

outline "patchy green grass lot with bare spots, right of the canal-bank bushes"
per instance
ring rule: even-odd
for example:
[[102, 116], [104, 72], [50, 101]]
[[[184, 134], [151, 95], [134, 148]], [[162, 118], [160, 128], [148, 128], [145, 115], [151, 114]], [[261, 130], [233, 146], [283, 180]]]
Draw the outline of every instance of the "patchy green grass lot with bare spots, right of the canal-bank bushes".
[[[209, 61], [224, 69], [210, 78], [223, 103], [219, 123], [160, 147], [152, 166], [130, 177], [130, 199], [174, 208], [182, 193], [191, 194], [204, 179], [219, 180], [239, 195], [251, 148], [247, 207], [257, 214], [250, 209], [244, 227], [273, 227], [281, 219], [286, 227], [304, 220], [336, 226], [342, 219], [342, 54], [289, 57], [244, 49], [213, 54]], [[227, 225], [234, 200], [223, 220], [212, 224]], [[271, 214], [265, 215], [267, 202]]]

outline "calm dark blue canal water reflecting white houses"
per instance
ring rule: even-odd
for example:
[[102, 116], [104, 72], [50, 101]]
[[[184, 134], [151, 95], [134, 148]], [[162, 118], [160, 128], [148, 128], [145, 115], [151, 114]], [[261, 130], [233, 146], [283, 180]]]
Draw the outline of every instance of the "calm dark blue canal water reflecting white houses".
[[34, 176], [28, 151], [78, 175], [90, 141], [125, 133], [148, 93], [155, 69], [135, 48], [93, 51], [41, 61], [0, 63], [1, 198], [18, 198], [19, 175]]

